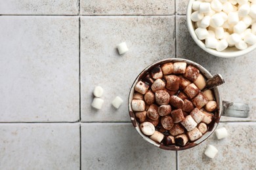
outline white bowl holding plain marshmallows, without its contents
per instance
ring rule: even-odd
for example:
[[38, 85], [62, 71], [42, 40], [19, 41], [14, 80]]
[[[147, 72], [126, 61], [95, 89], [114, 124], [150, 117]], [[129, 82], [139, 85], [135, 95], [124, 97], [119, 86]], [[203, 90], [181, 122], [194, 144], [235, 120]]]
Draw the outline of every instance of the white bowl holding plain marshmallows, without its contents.
[[187, 10], [186, 10], [186, 22], [188, 24], [188, 31], [189, 31], [191, 37], [194, 39], [196, 44], [198, 44], [198, 46], [200, 46], [200, 48], [205, 50], [205, 52], [208, 52], [209, 54], [212, 54], [213, 56], [217, 56], [217, 57], [221, 57], [221, 58], [234, 58], [234, 57], [238, 57], [238, 56], [244, 56], [245, 54], [251, 52], [252, 50], [254, 50], [256, 48], [256, 44], [249, 46], [245, 50], [238, 50], [235, 46], [232, 46], [232, 47], [226, 48], [222, 52], [218, 52], [217, 50], [214, 50], [211, 48], [206, 48], [204, 42], [201, 41], [200, 39], [198, 39], [198, 37], [196, 36], [194, 23], [190, 19], [190, 16], [192, 14], [192, 3], [194, 1], [195, 0], [190, 0], [188, 2], [188, 6], [187, 6]]

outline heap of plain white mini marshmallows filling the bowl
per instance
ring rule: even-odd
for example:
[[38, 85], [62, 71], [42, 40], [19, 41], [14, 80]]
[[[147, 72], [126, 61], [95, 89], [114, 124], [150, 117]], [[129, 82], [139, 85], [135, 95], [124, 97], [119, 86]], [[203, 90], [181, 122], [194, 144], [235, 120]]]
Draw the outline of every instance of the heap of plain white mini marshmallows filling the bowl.
[[[245, 50], [256, 44], [256, 0], [197, 0], [191, 20], [198, 39], [219, 52], [229, 46]], [[250, 29], [251, 32], [248, 32]]]

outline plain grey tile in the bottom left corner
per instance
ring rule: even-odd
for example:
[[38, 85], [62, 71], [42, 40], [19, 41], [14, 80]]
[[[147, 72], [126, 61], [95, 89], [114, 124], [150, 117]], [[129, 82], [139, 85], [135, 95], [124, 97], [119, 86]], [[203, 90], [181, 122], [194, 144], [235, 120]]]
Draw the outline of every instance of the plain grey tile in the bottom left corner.
[[0, 169], [79, 169], [79, 124], [0, 124]]

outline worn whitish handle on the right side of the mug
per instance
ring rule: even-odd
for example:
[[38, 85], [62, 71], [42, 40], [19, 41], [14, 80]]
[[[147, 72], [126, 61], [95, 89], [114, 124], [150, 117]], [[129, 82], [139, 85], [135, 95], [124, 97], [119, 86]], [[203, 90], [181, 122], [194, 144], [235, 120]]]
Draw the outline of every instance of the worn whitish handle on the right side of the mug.
[[249, 106], [244, 103], [223, 101], [223, 112], [221, 116], [247, 118], [249, 116]]

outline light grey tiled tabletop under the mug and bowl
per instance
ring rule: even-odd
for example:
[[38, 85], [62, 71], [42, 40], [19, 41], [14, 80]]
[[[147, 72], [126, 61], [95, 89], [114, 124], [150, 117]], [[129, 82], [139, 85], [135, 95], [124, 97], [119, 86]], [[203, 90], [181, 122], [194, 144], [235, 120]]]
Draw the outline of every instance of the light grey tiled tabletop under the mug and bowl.
[[[186, 29], [182, 1], [0, 0], [0, 169], [253, 169], [256, 52], [224, 59]], [[129, 52], [119, 56], [116, 44]], [[127, 95], [140, 71], [164, 58], [192, 59], [226, 82], [223, 99], [249, 118], [221, 118], [229, 136], [191, 150], [145, 143], [129, 121]], [[93, 88], [104, 88], [102, 110]], [[124, 99], [119, 109], [111, 101]], [[214, 160], [207, 144], [219, 149]]]

